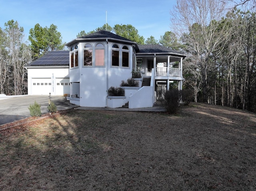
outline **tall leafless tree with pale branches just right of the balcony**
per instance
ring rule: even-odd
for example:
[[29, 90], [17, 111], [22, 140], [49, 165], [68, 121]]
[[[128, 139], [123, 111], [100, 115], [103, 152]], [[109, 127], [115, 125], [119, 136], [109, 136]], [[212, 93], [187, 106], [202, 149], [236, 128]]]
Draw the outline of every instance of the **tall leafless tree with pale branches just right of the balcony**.
[[225, 43], [231, 31], [226, 27], [226, 20], [222, 20], [226, 14], [224, 3], [219, 0], [177, 0], [170, 14], [172, 28], [183, 36], [188, 52], [200, 70], [203, 101], [206, 102], [209, 75], [216, 70], [212, 56], [218, 57], [222, 50], [217, 51], [217, 47]]

